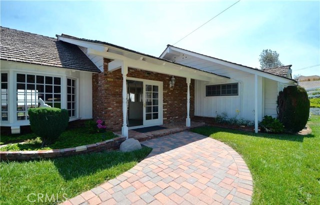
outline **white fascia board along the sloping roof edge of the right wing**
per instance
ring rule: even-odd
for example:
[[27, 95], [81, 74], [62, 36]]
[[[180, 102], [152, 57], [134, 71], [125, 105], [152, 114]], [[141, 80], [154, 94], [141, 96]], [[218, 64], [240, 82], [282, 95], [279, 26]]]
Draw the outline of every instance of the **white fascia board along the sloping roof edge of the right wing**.
[[233, 63], [230, 63], [230, 62], [225, 62], [223, 60], [219, 60], [219, 59], [215, 59], [215, 58], [212, 58], [212, 57], [204, 56], [204, 55], [197, 54], [197, 53], [194, 53], [194, 52], [191, 52], [191, 51], [179, 49], [177, 47], [170, 47], [170, 48], [172, 50], [175, 50], [175, 51], [178, 51], [178, 52], [182, 52], [182, 53], [185, 53], [185, 54], [188, 54], [188, 55], [192, 55], [194, 57], [198, 57], [198, 58], [201, 58], [201, 59], [204, 59], [204, 60], [208, 60], [208, 61], [211, 61], [211, 62], [219, 63], [221, 65], [225, 65], [225, 66], [228, 66], [228, 67], [231, 67], [231, 68], [234, 68], [234, 69], [238, 69], [238, 70], [241, 70], [241, 71], [244, 71], [244, 72], [257, 74], [259, 76], [262, 76], [262, 77], [265, 77], [265, 78], [268, 78], [268, 79], [272, 79], [272, 80], [275, 80], [275, 81], [279, 81], [279, 82], [282, 82], [282, 83], [290, 83], [290, 82], [292, 82], [292, 80], [289, 80], [289, 79], [285, 79], [285, 78], [282, 78], [282, 77], [279, 77], [279, 76], [275, 76], [275, 75], [272, 75], [272, 74], [268, 74], [268, 73], [265, 73], [265, 72], [261, 72], [261, 71], [258, 71], [258, 70], [250, 69], [250, 68], [247, 68], [247, 67], [244, 67], [244, 66], [241, 66], [241, 65], [236, 65], [236, 64], [233, 64]]

